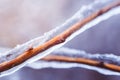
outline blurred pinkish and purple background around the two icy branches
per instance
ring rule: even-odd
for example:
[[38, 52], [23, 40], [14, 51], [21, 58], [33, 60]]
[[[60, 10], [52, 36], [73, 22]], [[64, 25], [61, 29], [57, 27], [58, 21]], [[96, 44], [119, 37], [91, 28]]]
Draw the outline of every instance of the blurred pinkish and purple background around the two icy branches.
[[[13, 48], [64, 23], [94, 0], [0, 0], [0, 46]], [[89, 53], [120, 54], [120, 15], [83, 32], [65, 46]], [[119, 80], [82, 68], [22, 68], [0, 80]]]

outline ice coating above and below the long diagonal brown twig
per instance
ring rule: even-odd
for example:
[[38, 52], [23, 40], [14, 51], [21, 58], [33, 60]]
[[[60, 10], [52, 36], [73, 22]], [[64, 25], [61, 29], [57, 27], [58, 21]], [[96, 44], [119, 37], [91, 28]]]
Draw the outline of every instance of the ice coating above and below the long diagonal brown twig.
[[[38, 37], [38, 38], [33, 39], [31, 41], [28, 41], [25, 44], [18, 45], [14, 49], [12, 49], [4, 54], [1, 54], [0, 55], [0, 63], [14, 59], [15, 57], [17, 57], [21, 53], [27, 51], [30, 47], [37, 47], [37, 46], [43, 44], [44, 42], [48, 41], [49, 39], [53, 38], [54, 36], [58, 35], [59, 33], [63, 32], [64, 30], [66, 30], [68, 27], [70, 27], [71, 25], [73, 25], [77, 21], [80, 21], [80, 20], [86, 18], [87, 16], [89, 16], [93, 12], [95, 12], [95, 11], [101, 9], [102, 7], [112, 3], [113, 1], [115, 1], [115, 0], [106, 0], [106, 1], [96, 0], [95, 2], [93, 2], [92, 4], [90, 4], [88, 6], [83, 6], [72, 18], [70, 18], [68, 21], [66, 21], [61, 26], [58, 26], [55, 29], [45, 33], [41, 37]], [[26, 64], [32, 63], [32, 62], [50, 54], [52, 51], [61, 47], [62, 45], [64, 45], [69, 40], [73, 39], [75, 36], [82, 33], [83, 31], [85, 31], [85, 30], [89, 29], [90, 27], [98, 24], [99, 22], [106, 20], [106, 19], [110, 18], [111, 16], [114, 16], [117, 14], [120, 14], [120, 7], [114, 8], [111, 11], [107, 12], [106, 14], [104, 14], [104, 15], [96, 18], [95, 20], [89, 22], [82, 29], [80, 29], [80, 30], [76, 31], [74, 34], [72, 34], [64, 43], [53, 46], [53, 47], [49, 48], [48, 50], [32, 57], [31, 59], [28, 59], [24, 63], [12, 68], [12, 69], [1, 72], [0, 76], [4, 76], [4, 75], [8, 75], [10, 73], [13, 73], [13, 72], [17, 71], [19, 68], [22, 68], [23, 66], [25, 66]], [[6, 55], [11, 55], [11, 56], [7, 57]]]

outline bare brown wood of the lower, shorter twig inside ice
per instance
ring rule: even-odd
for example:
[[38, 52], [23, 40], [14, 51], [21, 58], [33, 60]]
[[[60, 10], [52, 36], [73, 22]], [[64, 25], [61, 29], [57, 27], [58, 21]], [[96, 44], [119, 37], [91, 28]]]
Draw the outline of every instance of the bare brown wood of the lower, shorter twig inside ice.
[[74, 57], [67, 57], [67, 56], [58, 56], [58, 55], [48, 55], [42, 60], [45, 61], [62, 61], [62, 62], [70, 62], [70, 63], [81, 63], [90, 66], [100, 67], [107, 70], [112, 70], [115, 72], [120, 72], [120, 66], [110, 63], [105, 63], [97, 60], [86, 59], [86, 58], [74, 58]]

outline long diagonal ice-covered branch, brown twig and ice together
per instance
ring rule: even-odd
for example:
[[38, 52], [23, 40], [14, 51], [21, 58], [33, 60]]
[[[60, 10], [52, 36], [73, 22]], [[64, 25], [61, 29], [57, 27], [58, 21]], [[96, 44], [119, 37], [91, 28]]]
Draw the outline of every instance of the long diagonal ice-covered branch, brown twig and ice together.
[[114, 1], [97, 0], [86, 7], [84, 6], [65, 24], [51, 30], [42, 37], [33, 39], [1, 54], [0, 76], [8, 75], [25, 66], [27, 63], [32, 63], [43, 58], [93, 25], [111, 16], [120, 14], [120, 2], [113, 3]]

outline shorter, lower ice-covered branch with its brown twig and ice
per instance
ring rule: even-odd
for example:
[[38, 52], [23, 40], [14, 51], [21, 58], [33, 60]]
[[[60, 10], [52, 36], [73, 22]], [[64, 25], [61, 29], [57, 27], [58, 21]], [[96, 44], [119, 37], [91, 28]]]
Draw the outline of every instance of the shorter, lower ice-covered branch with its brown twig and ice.
[[34, 69], [82, 67], [105, 75], [120, 75], [120, 66], [113, 62], [119, 64], [120, 57], [114, 54], [90, 54], [63, 47], [27, 67]]

